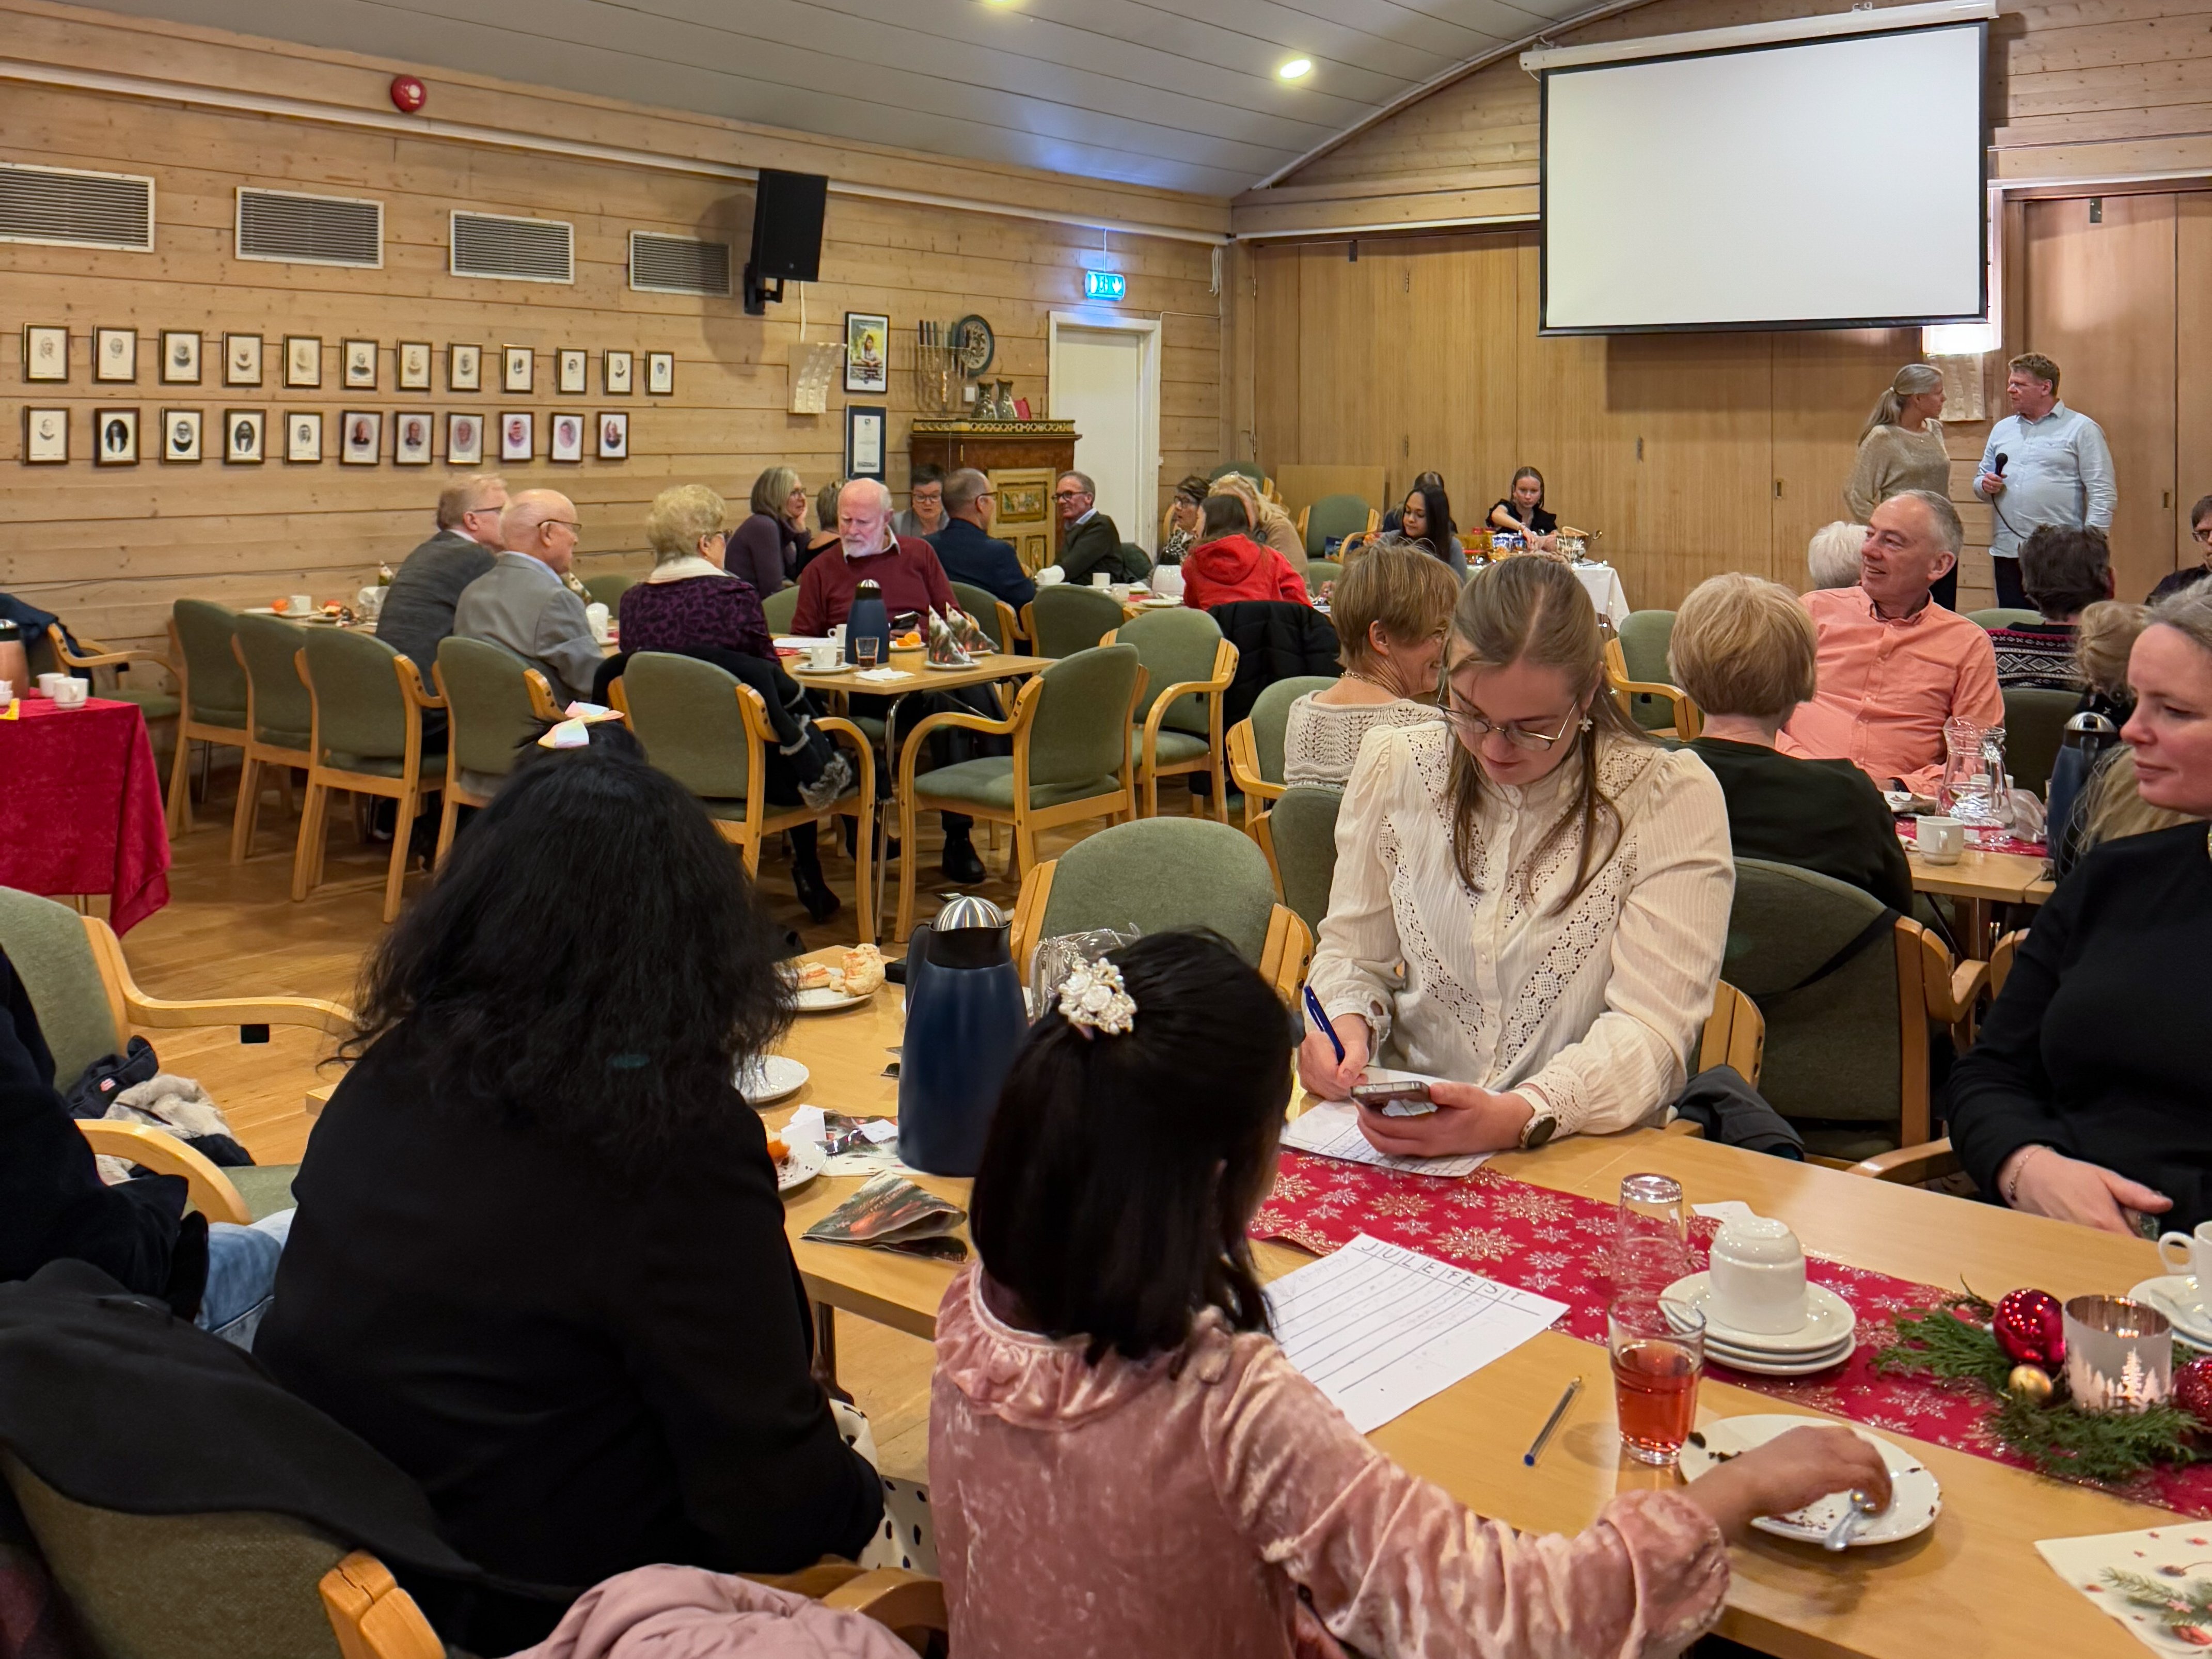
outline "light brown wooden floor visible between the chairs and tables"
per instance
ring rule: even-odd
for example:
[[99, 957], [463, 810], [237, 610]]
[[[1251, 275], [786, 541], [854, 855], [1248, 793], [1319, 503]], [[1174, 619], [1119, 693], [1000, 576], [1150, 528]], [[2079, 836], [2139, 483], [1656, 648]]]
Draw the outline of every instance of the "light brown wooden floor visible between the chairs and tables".
[[[175, 843], [168, 874], [170, 902], [131, 929], [124, 956], [137, 982], [157, 998], [208, 998], [232, 993], [314, 995], [352, 1004], [363, 958], [383, 936], [383, 887], [389, 843], [363, 845], [343, 796], [330, 814], [325, 885], [294, 905], [292, 847], [299, 821], [285, 814], [274, 787], [261, 807], [261, 827], [243, 865], [230, 865], [230, 814], [234, 772], [217, 772], [212, 799], [195, 812], [195, 827]], [[1179, 790], [1179, 785], [1175, 785]], [[1181, 799], [1164, 801], [1183, 807]], [[1040, 854], [1051, 858], [1097, 825], [1075, 825], [1040, 836]], [[978, 852], [991, 876], [975, 887], [1011, 911], [1018, 883], [1006, 874], [1011, 834], [998, 854], [989, 852], [978, 825]], [[945, 887], [936, 860], [940, 836], [922, 830], [922, 894]], [[823, 836], [823, 869], [845, 909], [814, 925], [792, 896], [790, 867], [781, 847], [770, 845], [761, 863], [761, 891], [779, 927], [801, 933], [810, 949], [849, 945], [852, 876], [836, 836]], [[411, 874], [407, 896], [422, 891], [429, 876]], [[898, 872], [887, 898], [896, 905]], [[933, 907], [922, 902], [927, 916]], [[898, 947], [889, 947], [896, 956]], [[265, 1046], [243, 1046], [237, 1033], [148, 1031], [161, 1068], [197, 1077], [230, 1117], [239, 1141], [261, 1164], [296, 1164], [307, 1148], [301, 1102], [314, 1082], [334, 1079], [321, 1068], [332, 1040], [321, 1033], [272, 1033]], [[834, 1106], [836, 1102], [816, 1102]], [[838, 1376], [876, 1429], [883, 1471], [902, 1480], [927, 1480], [929, 1455], [929, 1345], [883, 1325], [838, 1316]]]

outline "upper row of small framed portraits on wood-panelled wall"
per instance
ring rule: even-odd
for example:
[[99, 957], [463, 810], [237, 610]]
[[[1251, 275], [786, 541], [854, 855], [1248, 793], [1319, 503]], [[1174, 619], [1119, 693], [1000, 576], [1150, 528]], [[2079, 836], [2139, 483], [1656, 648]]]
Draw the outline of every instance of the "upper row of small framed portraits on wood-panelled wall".
[[[265, 338], [261, 334], [223, 334], [223, 385], [257, 387], [265, 374]], [[201, 354], [206, 336], [197, 330], [161, 330], [161, 356], [157, 378], [161, 385], [201, 385], [206, 365]], [[392, 385], [398, 392], [429, 392], [431, 369], [438, 347], [429, 341], [398, 341], [392, 347], [378, 341], [338, 341], [338, 385], [347, 392], [378, 392], [383, 385], [385, 352], [392, 354]], [[553, 358], [553, 392], [591, 394], [591, 352], [580, 345], [562, 345], [546, 356]], [[323, 387], [323, 336], [285, 334], [279, 343], [279, 372], [285, 392], [319, 392]], [[529, 345], [498, 347], [498, 389], [535, 392], [538, 352]], [[131, 327], [93, 330], [93, 383], [137, 385], [139, 338]], [[69, 383], [69, 327], [62, 323], [24, 323], [22, 330], [22, 378], [33, 385]], [[646, 352], [644, 374], [646, 396], [668, 398], [677, 389], [677, 354]], [[445, 347], [445, 389], [484, 389], [484, 347]], [[599, 392], [626, 398], [637, 389], [637, 354], [606, 349], [599, 352]]]

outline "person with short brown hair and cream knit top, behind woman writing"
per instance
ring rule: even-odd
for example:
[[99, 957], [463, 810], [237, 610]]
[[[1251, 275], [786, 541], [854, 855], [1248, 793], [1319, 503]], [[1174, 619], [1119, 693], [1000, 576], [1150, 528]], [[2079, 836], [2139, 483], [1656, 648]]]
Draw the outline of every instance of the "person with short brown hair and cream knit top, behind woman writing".
[[1458, 597], [1458, 577], [1420, 549], [1378, 546], [1345, 566], [1329, 602], [1345, 675], [1290, 706], [1283, 783], [1340, 790], [1367, 732], [1444, 717], [1413, 699], [1436, 697]]

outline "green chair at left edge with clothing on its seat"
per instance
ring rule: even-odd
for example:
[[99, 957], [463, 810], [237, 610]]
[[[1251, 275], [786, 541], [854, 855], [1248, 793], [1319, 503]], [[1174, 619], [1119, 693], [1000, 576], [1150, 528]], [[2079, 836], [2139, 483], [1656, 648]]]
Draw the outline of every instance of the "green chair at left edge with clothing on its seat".
[[[354, 1015], [316, 998], [150, 998], [131, 978], [122, 940], [97, 916], [80, 916], [51, 898], [0, 887], [0, 949], [22, 978], [38, 1026], [53, 1051], [53, 1077], [69, 1088], [84, 1068], [119, 1055], [133, 1026], [208, 1029], [307, 1026], [330, 1035], [352, 1031]], [[115, 1152], [164, 1175], [181, 1175], [192, 1203], [210, 1221], [252, 1221], [292, 1203], [294, 1166], [221, 1170], [184, 1141], [142, 1124], [80, 1121], [97, 1152]]]

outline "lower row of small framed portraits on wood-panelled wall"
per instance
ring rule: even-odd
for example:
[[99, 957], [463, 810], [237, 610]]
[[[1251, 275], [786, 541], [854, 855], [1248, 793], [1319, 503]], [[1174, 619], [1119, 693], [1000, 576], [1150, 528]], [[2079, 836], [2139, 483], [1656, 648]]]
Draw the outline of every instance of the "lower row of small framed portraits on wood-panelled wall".
[[[22, 411], [22, 458], [29, 467], [62, 467], [69, 462], [69, 409]], [[93, 465], [137, 467], [142, 460], [192, 465], [219, 458], [232, 467], [259, 467], [270, 456], [312, 465], [325, 458], [325, 425], [321, 409], [276, 411], [276, 438], [270, 440], [268, 409], [223, 409], [221, 427], [208, 442], [206, 409], [164, 409], [150, 445], [142, 445], [139, 409], [93, 409]], [[385, 447], [385, 420], [392, 445]], [[487, 456], [502, 462], [544, 460], [582, 462], [586, 451], [597, 460], [630, 458], [630, 416], [626, 409], [602, 409], [586, 416], [555, 409], [538, 416], [531, 409], [507, 409], [484, 416], [473, 409], [445, 416], [445, 451], [436, 453], [438, 418], [418, 409], [347, 409], [336, 416], [336, 458], [345, 467], [476, 467]], [[542, 425], [540, 425], [542, 422]]]

